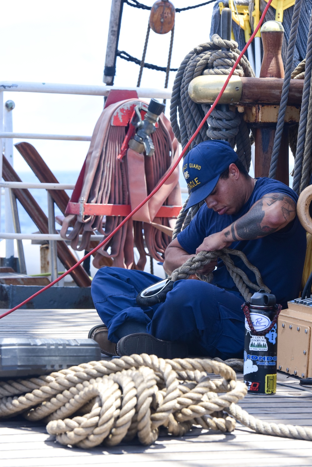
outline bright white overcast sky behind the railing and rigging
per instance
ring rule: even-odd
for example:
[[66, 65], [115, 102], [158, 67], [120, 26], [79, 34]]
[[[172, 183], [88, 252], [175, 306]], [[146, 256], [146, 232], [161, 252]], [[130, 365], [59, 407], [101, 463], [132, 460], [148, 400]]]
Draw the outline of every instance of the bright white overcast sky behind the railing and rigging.
[[[202, 0], [203, 1], [203, 0]], [[151, 0], [142, 0], [151, 6]], [[200, 3], [177, 0], [175, 7]], [[110, 0], [15, 0], [1, 4], [2, 81], [103, 84]], [[196, 45], [209, 40], [213, 4], [176, 14], [171, 67], [178, 68]], [[141, 58], [149, 11], [124, 5], [119, 50]], [[170, 34], [151, 31], [146, 62], [166, 66]], [[139, 67], [117, 57], [114, 84], [136, 86]], [[174, 72], [170, 73], [172, 88]], [[141, 86], [164, 86], [165, 73], [144, 69]], [[5, 92], [12, 99], [13, 131], [91, 135], [103, 108], [98, 96]], [[19, 140], [14, 140], [14, 143]], [[80, 170], [89, 142], [28, 140], [52, 171]], [[30, 170], [16, 149], [14, 168]]]

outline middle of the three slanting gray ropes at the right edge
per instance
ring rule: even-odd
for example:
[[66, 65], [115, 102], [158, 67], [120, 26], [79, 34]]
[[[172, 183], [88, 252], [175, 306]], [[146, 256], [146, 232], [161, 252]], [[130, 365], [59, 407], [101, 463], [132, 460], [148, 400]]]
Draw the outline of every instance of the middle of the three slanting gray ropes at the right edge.
[[292, 189], [299, 194], [300, 181], [302, 177], [302, 166], [305, 151], [305, 134], [306, 123], [309, 106], [310, 86], [311, 86], [311, 70], [312, 70], [312, 14], [310, 16], [310, 29], [308, 35], [308, 43], [306, 48], [306, 61], [305, 61], [305, 81], [302, 93], [302, 104], [298, 129], [298, 142], [295, 157], [294, 178]]

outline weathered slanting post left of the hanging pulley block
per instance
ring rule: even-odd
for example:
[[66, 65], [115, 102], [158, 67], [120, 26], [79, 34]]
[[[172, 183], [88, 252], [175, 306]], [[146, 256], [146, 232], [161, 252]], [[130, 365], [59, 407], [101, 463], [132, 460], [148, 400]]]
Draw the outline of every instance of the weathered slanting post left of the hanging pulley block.
[[109, 21], [103, 83], [112, 86], [116, 73], [116, 52], [118, 47], [123, 0], [112, 0]]

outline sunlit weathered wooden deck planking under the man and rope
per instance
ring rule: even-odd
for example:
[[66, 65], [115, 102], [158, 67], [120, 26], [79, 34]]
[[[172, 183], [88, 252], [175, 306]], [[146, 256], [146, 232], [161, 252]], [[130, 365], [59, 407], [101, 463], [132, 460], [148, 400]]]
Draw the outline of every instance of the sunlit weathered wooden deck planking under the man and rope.
[[[0, 313], [3, 311], [0, 310]], [[95, 310], [17, 310], [0, 320], [0, 337], [86, 338], [101, 321]], [[212, 376], [215, 377], [215, 376]], [[242, 379], [242, 375], [238, 375]], [[278, 375], [276, 396], [248, 395], [241, 407], [255, 417], [275, 423], [312, 426], [312, 389]], [[59, 445], [42, 422], [22, 417], [0, 420], [1, 467], [62, 467], [116, 464], [153, 467], [298, 467], [312, 466], [310, 441], [277, 438], [237, 424], [232, 433], [207, 432], [194, 427], [183, 437], [164, 436], [152, 446], [138, 440], [90, 450]]]

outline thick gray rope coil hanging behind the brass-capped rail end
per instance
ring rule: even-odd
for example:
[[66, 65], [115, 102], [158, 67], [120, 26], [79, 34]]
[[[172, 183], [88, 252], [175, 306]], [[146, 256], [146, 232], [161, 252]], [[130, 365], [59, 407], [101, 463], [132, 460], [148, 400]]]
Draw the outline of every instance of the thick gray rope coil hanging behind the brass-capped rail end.
[[[221, 50], [226, 48], [228, 50]], [[240, 51], [237, 49], [237, 43], [227, 41], [214, 34], [211, 42], [206, 42], [195, 47], [184, 58], [180, 65], [174, 81], [171, 104], [170, 104], [170, 122], [177, 140], [181, 142], [182, 147], [186, 145], [192, 134], [195, 133], [199, 123], [207, 113], [210, 106], [206, 104], [195, 104], [189, 96], [188, 86], [193, 78], [200, 75], [228, 75]], [[234, 74], [238, 76], [254, 77], [255, 74], [250, 67], [246, 57], [243, 57], [237, 66]], [[251, 144], [249, 138], [249, 129], [241, 114], [232, 110], [221, 110], [216, 108], [208, 118], [206, 124], [191, 144], [195, 144], [213, 139], [228, 139], [232, 147], [236, 144], [237, 155], [249, 170], [251, 161]], [[199, 206], [193, 206], [191, 213], [187, 215], [184, 209], [181, 210], [172, 239], [187, 226], [192, 217], [198, 211]]]

